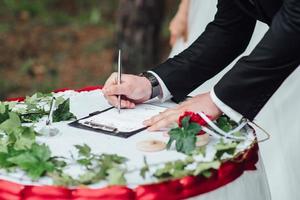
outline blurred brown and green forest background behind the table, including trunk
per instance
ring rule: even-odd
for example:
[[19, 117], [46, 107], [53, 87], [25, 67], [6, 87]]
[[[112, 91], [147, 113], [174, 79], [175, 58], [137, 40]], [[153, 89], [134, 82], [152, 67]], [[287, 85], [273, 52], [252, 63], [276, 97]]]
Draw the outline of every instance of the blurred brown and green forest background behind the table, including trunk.
[[127, 72], [165, 60], [170, 51], [168, 25], [178, 3], [1, 0], [0, 100], [102, 85], [115, 69], [119, 47]]

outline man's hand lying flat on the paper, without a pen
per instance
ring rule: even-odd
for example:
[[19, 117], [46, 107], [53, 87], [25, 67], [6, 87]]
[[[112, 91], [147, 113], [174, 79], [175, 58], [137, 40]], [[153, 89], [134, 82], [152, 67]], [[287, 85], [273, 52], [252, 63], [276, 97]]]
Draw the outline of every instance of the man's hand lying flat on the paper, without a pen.
[[212, 120], [218, 118], [222, 114], [222, 111], [214, 104], [208, 92], [197, 95], [175, 108], [167, 109], [159, 115], [144, 121], [144, 125], [149, 126], [149, 131], [158, 131], [162, 128], [168, 128], [170, 125], [177, 123], [179, 116], [185, 111], [202, 111], [206, 115], [212, 117]]

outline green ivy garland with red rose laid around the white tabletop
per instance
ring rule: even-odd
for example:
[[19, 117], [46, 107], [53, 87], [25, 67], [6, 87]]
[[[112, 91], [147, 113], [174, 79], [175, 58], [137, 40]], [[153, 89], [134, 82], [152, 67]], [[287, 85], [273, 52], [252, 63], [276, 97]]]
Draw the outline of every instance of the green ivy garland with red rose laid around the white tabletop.
[[[106, 181], [109, 185], [124, 185], [125, 175], [131, 173], [126, 168], [127, 158], [115, 154], [94, 154], [87, 145], [75, 145], [78, 157], [72, 160], [51, 156], [46, 144], [39, 144], [36, 137], [40, 133], [33, 127], [25, 126], [24, 122], [39, 121], [49, 114], [50, 100], [53, 94], [34, 94], [22, 103], [0, 102], [0, 169], [8, 172], [21, 169], [33, 180], [50, 177], [55, 185], [77, 186], [90, 185]], [[22, 104], [20, 108], [20, 104]], [[69, 111], [69, 99], [61, 97], [54, 111], [54, 121], [67, 121], [74, 118]], [[25, 116], [25, 117], [24, 117]], [[228, 117], [222, 116], [216, 124], [224, 131], [237, 126]], [[236, 154], [238, 142], [220, 140], [216, 145], [214, 160], [198, 161], [198, 156], [205, 155], [205, 147], [197, 147], [197, 135], [203, 135], [202, 127], [206, 123], [195, 113], [186, 112], [179, 117], [178, 126], [169, 132], [167, 148], [170, 150], [175, 143], [178, 152], [186, 154], [186, 159], [156, 165], [149, 165], [145, 158], [140, 169], [141, 177], [151, 176], [158, 181], [165, 181], [184, 176], [210, 177], [222, 163], [222, 156]], [[70, 164], [84, 167], [84, 173], [74, 178], [64, 171]], [[153, 172], [150, 168], [154, 168]]]

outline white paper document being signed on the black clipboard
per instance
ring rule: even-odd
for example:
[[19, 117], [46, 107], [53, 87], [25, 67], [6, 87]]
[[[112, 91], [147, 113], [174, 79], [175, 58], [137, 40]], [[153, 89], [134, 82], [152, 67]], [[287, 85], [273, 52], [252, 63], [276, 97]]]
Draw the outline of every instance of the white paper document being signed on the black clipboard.
[[121, 109], [121, 113], [118, 113], [118, 109], [112, 108], [92, 117], [79, 120], [79, 123], [91, 127], [99, 126], [104, 130], [107, 129], [107, 131], [132, 132], [143, 128], [143, 121], [165, 109], [151, 104], [140, 104], [134, 109]]

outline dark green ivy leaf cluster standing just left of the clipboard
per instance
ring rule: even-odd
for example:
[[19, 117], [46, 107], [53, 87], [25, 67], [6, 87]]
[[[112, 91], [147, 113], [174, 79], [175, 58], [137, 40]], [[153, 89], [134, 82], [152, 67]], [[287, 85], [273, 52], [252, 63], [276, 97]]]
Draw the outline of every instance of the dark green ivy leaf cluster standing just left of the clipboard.
[[53, 112], [53, 122], [68, 121], [71, 119], [76, 119], [76, 117], [70, 112], [70, 99], [67, 99], [58, 105], [57, 109]]

